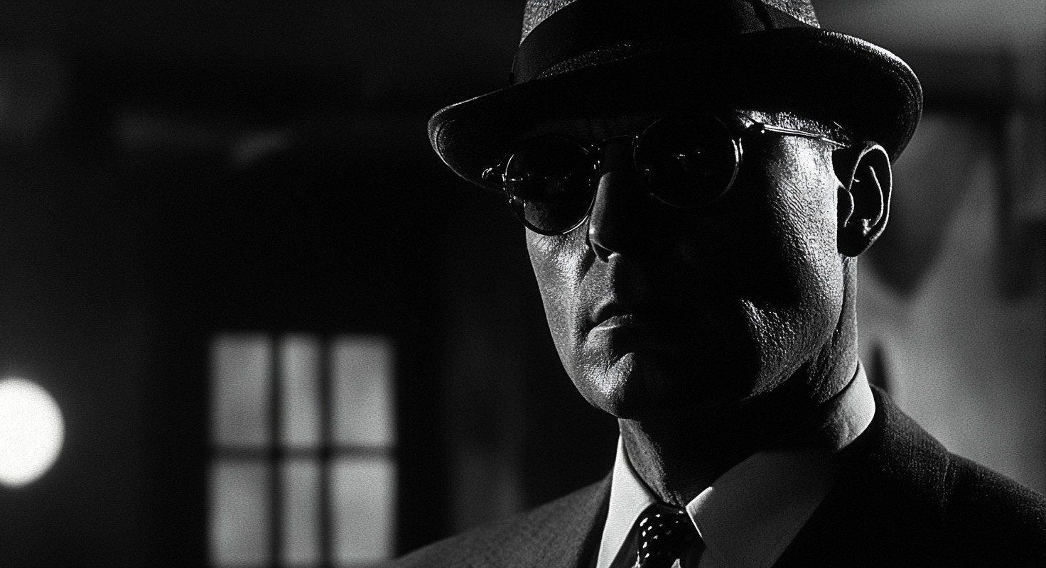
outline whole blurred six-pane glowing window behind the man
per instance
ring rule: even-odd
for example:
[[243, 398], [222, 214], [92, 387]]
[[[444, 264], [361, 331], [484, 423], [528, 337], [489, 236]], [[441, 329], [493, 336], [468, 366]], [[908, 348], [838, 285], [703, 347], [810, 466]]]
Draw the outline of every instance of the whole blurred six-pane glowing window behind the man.
[[391, 556], [392, 356], [380, 336], [213, 337], [213, 566], [350, 567]]

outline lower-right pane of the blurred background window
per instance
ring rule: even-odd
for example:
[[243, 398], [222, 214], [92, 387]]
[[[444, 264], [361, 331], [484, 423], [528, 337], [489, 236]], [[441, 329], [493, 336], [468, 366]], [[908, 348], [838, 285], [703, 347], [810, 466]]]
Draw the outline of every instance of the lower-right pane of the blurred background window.
[[392, 556], [394, 477], [395, 467], [385, 457], [341, 457], [332, 464], [337, 566]]

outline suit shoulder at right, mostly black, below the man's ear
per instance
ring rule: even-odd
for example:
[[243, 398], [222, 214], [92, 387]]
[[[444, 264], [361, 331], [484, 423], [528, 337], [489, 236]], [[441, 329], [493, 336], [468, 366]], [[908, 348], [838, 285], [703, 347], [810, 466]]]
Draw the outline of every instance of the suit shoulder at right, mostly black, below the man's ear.
[[1046, 566], [1043, 496], [950, 453], [876, 395], [872, 424], [780, 565]]

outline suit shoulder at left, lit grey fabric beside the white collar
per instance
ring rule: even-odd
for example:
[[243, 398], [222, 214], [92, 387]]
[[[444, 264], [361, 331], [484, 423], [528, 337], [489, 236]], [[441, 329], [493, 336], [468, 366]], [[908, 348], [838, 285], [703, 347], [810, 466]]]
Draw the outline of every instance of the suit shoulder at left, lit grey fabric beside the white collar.
[[536, 566], [538, 556], [581, 554], [606, 516], [608, 480], [537, 508], [419, 548], [389, 568]]

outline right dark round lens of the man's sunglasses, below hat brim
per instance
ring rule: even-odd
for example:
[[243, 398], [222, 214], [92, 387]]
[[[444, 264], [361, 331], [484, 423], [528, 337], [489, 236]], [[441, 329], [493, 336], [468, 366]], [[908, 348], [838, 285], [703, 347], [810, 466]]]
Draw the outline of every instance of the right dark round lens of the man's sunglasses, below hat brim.
[[650, 191], [677, 207], [715, 201], [733, 184], [741, 150], [721, 120], [661, 119], [636, 144], [636, 164]]

